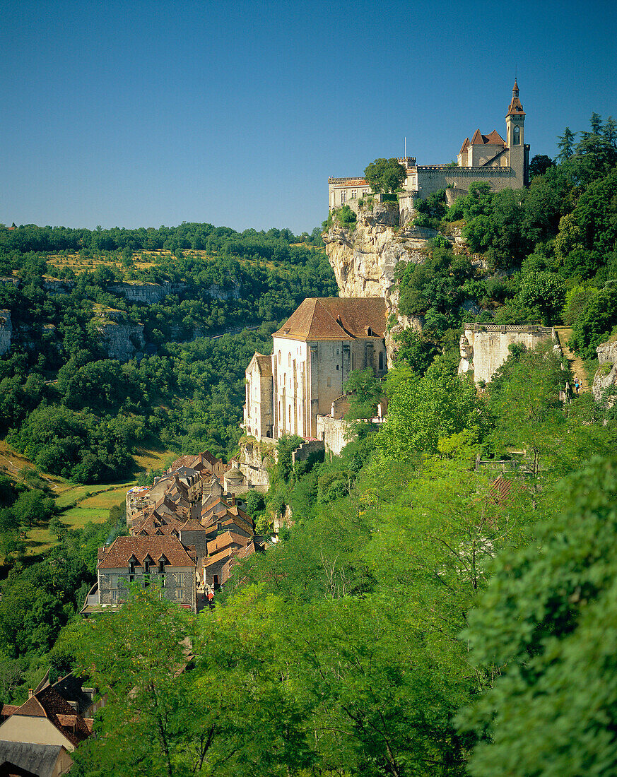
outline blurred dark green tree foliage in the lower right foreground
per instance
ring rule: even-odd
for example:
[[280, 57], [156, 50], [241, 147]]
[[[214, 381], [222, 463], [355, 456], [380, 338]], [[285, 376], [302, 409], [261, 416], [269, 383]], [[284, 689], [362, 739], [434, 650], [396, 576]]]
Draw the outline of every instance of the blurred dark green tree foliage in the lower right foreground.
[[615, 747], [617, 462], [594, 459], [556, 494], [527, 549], [500, 557], [465, 639], [494, 684], [461, 716], [482, 740], [474, 777], [611, 775]]

